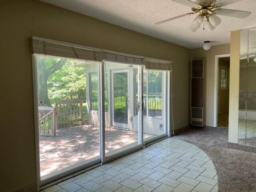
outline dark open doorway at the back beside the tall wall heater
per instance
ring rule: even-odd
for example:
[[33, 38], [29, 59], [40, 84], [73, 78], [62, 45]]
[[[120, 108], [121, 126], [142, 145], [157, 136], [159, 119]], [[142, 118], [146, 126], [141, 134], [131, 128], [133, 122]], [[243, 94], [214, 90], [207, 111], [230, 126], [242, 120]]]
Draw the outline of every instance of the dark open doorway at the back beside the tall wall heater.
[[218, 58], [217, 126], [228, 128], [230, 57]]

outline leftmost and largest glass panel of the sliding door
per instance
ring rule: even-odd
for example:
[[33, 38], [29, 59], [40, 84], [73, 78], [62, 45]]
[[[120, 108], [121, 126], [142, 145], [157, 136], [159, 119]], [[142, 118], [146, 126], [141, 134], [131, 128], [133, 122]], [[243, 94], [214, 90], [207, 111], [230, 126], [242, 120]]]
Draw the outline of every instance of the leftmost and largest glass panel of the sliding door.
[[99, 65], [35, 56], [41, 181], [100, 159]]

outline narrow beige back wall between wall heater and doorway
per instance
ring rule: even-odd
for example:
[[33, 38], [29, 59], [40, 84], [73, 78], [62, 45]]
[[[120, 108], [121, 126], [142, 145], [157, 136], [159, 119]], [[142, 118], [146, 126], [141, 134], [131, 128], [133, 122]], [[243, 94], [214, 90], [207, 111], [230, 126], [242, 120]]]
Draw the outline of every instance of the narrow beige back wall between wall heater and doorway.
[[205, 107], [206, 107], [206, 126], [214, 126], [214, 65], [215, 55], [229, 54], [230, 44], [212, 46], [206, 51], [203, 48], [192, 49], [191, 60], [205, 59]]

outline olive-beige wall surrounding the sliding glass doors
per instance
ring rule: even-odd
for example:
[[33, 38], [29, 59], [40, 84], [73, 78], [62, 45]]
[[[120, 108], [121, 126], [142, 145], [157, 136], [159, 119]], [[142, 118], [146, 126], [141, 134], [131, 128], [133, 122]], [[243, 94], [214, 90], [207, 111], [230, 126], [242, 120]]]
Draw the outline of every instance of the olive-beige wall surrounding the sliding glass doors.
[[189, 49], [36, 0], [1, 1], [0, 26], [1, 191], [36, 182], [31, 36], [172, 60], [175, 128], [189, 124]]

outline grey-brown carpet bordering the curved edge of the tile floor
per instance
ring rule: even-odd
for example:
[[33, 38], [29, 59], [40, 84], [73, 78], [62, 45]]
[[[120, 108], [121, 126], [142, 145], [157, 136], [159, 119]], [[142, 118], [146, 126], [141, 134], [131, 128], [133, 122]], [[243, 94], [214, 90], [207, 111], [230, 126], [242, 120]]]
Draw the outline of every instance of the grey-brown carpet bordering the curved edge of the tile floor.
[[218, 174], [219, 192], [256, 192], [256, 148], [228, 143], [228, 129], [192, 128], [174, 138], [208, 154]]

